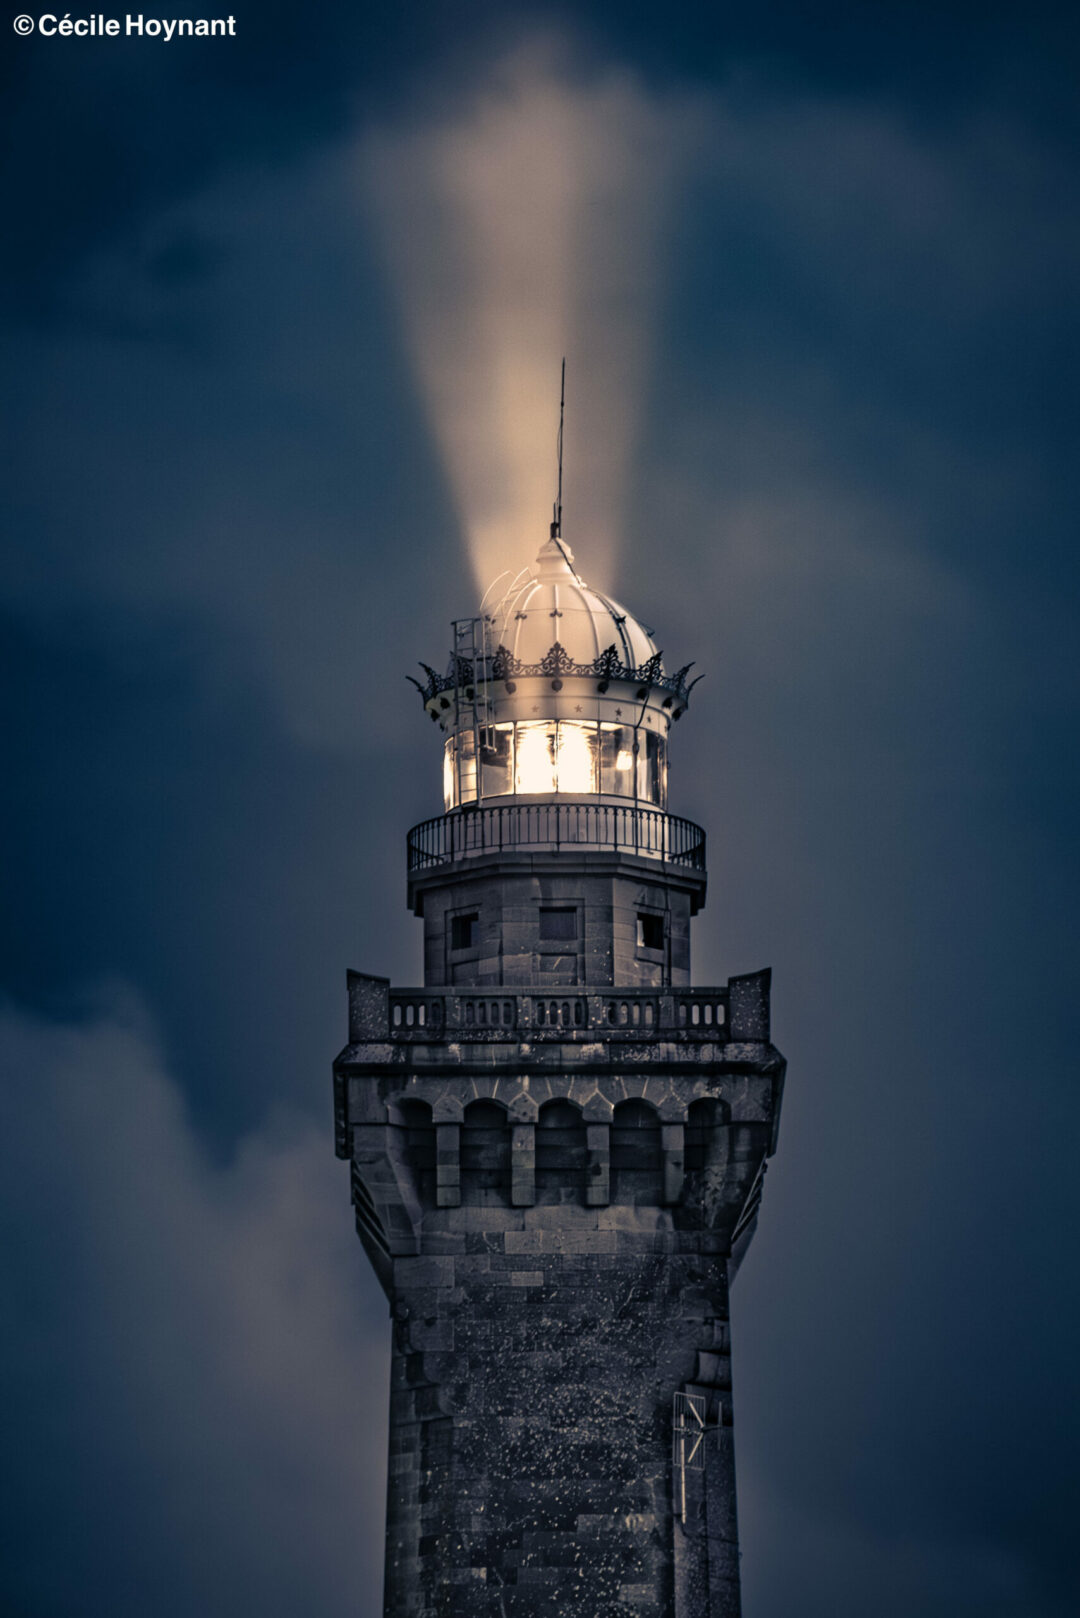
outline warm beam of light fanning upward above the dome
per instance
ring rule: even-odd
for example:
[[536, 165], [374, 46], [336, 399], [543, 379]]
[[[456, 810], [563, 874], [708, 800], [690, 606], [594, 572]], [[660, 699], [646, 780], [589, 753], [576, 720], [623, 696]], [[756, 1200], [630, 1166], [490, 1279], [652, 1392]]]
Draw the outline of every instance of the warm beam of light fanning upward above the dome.
[[363, 178], [481, 592], [531, 561], [555, 493], [609, 582], [638, 447], [664, 204], [696, 115], [627, 71], [570, 79], [551, 44], [444, 116], [384, 129]]

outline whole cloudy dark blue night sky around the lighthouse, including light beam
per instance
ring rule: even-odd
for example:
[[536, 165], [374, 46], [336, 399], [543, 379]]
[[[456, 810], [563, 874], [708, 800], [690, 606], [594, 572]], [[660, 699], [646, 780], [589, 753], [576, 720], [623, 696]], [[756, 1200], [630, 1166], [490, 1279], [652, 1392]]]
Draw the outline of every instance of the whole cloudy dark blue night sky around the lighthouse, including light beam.
[[790, 1063], [746, 1618], [1072, 1618], [1075, 16], [5, 29], [0, 1612], [381, 1612], [330, 1060], [567, 341], [565, 534], [706, 673], [695, 979]]

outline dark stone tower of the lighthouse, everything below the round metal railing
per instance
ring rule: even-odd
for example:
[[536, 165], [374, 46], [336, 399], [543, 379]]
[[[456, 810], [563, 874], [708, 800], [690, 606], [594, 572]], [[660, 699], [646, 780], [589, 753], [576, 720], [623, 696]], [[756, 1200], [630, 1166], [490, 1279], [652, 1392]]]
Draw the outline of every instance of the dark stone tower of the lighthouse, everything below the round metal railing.
[[729, 1286], [784, 1079], [767, 974], [688, 987], [703, 872], [508, 856], [411, 893], [424, 987], [350, 974], [335, 1063], [393, 1320], [384, 1615], [738, 1618]]

